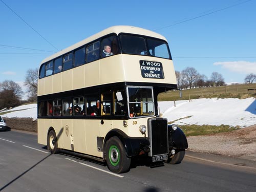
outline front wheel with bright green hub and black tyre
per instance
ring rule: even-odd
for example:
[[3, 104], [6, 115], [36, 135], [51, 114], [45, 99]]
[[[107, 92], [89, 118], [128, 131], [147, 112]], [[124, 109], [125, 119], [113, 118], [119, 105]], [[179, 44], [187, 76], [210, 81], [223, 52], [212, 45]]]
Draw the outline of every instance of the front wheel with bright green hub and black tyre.
[[106, 164], [114, 173], [125, 173], [130, 170], [131, 158], [125, 154], [125, 149], [118, 137], [112, 137], [106, 142]]

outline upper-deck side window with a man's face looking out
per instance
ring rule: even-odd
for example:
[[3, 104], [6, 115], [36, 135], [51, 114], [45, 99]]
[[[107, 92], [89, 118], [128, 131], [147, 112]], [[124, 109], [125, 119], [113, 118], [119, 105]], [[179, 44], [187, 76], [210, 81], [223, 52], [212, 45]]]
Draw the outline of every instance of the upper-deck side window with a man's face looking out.
[[115, 35], [103, 38], [101, 41], [101, 58], [119, 53], [117, 37]]

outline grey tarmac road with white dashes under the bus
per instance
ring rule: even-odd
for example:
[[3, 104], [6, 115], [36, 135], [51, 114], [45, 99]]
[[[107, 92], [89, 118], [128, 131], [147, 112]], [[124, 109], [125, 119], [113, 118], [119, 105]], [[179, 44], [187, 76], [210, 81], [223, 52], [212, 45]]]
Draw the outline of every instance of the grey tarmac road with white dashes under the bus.
[[181, 164], [107, 166], [68, 154], [51, 155], [37, 136], [0, 132], [0, 191], [256, 191], [256, 169], [184, 158]]

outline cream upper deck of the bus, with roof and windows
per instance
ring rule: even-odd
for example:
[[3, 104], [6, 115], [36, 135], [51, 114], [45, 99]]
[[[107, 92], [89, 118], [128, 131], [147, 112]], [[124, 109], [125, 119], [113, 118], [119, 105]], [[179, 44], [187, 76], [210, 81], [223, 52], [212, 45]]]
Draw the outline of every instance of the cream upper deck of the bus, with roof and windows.
[[[104, 55], [104, 47], [111, 55]], [[60, 73], [61, 72], [61, 73]], [[166, 39], [155, 32], [114, 26], [41, 62], [38, 96], [116, 82], [156, 83], [176, 88]]]

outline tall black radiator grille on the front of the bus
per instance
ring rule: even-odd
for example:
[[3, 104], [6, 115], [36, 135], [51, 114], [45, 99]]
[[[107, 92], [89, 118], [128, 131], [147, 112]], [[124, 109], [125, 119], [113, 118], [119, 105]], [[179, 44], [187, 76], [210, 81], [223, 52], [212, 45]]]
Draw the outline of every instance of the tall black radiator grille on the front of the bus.
[[148, 119], [148, 139], [150, 140], [151, 151], [148, 156], [168, 154], [168, 129], [167, 119]]

